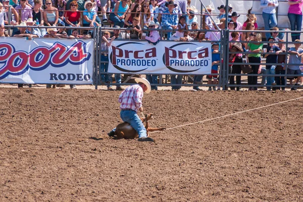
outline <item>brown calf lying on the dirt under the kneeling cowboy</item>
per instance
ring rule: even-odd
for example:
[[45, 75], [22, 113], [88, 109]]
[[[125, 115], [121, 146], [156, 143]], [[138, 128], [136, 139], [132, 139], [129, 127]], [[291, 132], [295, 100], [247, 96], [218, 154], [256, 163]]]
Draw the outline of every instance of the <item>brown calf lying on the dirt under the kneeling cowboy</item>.
[[[140, 118], [142, 123], [144, 123], [144, 121], [146, 122], [145, 129], [147, 131], [147, 137], [149, 137], [149, 132], [165, 130], [165, 128], [150, 128], [148, 120], [151, 118], [151, 116], [153, 116], [153, 114], [146, 114], [145, 118]], [[115, 135], [117, 136], [117, 139], [134, 139], [138, 137], [137, 131], [135, 131], [135, 129], [133, 129], [131, 125], [127, 122], [120, 123], [117, 126], [115, 130]]]

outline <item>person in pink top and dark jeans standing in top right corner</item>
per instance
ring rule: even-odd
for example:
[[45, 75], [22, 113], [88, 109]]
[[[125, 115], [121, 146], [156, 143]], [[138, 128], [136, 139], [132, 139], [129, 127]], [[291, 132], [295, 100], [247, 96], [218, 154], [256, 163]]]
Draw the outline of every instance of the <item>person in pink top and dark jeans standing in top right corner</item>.
[[[288, 0], [288, 4], [287, 16], [290, 22], [290, 30], [301, 31], [303, 2], [301, 0]], [[300, 33], [291, 33], [291, 40], [295, 41], [296, 39], [300, 39]]]

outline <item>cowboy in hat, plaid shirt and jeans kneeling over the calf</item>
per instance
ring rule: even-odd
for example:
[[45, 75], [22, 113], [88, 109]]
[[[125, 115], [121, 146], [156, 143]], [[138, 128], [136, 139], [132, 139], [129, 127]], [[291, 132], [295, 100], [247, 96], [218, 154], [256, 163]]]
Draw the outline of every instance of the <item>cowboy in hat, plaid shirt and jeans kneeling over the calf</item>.
[[[138, 133], [138, 141], [150, 141], [153, 142], [154, 139], [147, 137], [146, 129], [137, 115], [137, 111], [143, 112], [142, 107], [142, 97], [143, 92], [150, 92], [150, 83], [145, 78], [135, 78], [137, 84], [128, 86], [119, 96], [120, 105], [120, 116], [124, 122], [129, 123], [133, 129]], [[115, 136], [114, 128], [108, 133], [110, 137]]]

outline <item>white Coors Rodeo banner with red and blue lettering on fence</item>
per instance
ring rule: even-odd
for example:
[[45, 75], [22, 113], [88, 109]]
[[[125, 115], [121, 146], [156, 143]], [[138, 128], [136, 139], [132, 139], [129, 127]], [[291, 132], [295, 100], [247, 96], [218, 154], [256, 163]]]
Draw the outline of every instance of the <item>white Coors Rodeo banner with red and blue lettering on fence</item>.
[[0, 82], [91, 84], [93, 40], [0, 39]]

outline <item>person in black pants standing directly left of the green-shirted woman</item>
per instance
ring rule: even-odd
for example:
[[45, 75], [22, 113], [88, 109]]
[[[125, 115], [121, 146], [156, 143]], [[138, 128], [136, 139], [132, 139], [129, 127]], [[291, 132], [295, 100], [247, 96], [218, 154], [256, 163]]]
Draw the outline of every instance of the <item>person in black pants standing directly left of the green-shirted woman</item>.
[[[243, 52], [242, 44], [239, 43], [239, 42], [236, 42], [236, 41], [240, 40], [240, 33], [239, 32], [232, 32], [231, 37], [232, 37], [232, 41], [234, 41], [234, 42], [230, 43], [229, 48], [234, 49], [233, 47], [236, 47], [238, 49], [238, 52]], [[238, 46], [240, 46], [240, 47], [238, 47]], [[233, 63], [243, 63], [242, 54], [237, 53], [235, 55]], [[237, 64], [232, 65], [231, 74], [241, 74], [241, 71], [242, 71], [241, 70], [241, 65], [237, 65]], [[235, 77], [232, 76], [232, 75], [229, 77], [229, 84], [230, 85], [235, 84]], [[241, 85], [241, 76], [236, 76], [236, 84]], [[236, 89], [237, 91], [239, 91], [240, 86], [237, 86], [236, 88], [234, 86], [231, 86], [230, 89], [231, 90]]]

